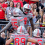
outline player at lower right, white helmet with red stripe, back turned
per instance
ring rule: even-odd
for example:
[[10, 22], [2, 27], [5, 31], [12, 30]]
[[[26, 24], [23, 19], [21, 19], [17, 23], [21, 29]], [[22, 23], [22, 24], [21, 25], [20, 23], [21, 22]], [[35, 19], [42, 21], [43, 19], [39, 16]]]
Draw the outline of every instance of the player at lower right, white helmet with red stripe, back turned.
[[[34, 36], [34, 39], [36, 39], [38, 41], [39, 45], [43, 45], [44, 39], [43, 38], [40, 38], [40, 36], [41, 36], [40, 29], [35, 29], [33, 31], [33, 36]], [[35, 45], [35, 43], [30, 43], [30, 45]]]

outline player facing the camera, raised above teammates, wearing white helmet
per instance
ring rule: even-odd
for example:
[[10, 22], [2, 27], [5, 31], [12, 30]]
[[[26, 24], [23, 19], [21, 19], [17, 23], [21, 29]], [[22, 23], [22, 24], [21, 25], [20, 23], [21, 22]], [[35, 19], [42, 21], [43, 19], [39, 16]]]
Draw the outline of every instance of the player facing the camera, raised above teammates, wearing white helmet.
[[[33, 14], [30, 13], [30, 10], [31, 10], [31, 6], [29, 4], [25, 4], [23, 6], [23, 14], [21, 16], [24, 17], [24, 25], [25, 25], [25, 27], [27, 28], [28, 27], [28, 24], [30, 22], [30, 24], [32, 26], [32, 30], [34, 30]], [[28, 32], [30, 34], [30, 30]]]

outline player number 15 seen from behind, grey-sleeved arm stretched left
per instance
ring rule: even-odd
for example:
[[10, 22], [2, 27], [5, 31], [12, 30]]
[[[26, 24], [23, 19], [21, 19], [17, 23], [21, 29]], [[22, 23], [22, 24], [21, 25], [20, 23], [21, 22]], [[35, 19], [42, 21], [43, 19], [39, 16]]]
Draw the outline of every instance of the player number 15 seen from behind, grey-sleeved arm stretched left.
[[0, 33], [7, 30], [11, 25], [13, 26], [15, 32], [18, 26], [24, 26], [24, 20], [23, 20], [24, 18], [19, 16], [21, 14], [22, 14], [21, 10], [18, 8], [15, 8], [13, 10], [14, 16], [10, 17], [9, 23], [0, 31]]

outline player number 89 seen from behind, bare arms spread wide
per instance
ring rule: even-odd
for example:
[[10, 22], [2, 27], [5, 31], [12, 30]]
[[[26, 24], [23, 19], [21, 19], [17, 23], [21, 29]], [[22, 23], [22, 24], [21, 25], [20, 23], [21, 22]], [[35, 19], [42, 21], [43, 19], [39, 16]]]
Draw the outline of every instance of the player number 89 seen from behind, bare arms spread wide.
[[14, 41], [14, 45], [27, 45], [27, 42], [33, 42], [38, 45], [38, 42], [35, 39], [31, 39], [26, 33], [24, 26], [17, 28], [17, 33], [11, 35], [10, 39], [6, 41], [6, 45], [9, 45], [12, 41]]

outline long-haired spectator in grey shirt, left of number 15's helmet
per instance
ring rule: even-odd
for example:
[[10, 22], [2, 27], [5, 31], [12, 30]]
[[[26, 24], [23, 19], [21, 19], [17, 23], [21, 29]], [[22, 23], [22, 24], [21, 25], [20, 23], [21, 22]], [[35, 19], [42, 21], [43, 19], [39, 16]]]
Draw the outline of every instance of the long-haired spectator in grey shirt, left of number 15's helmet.
[[13, 16], [13, 9], [14, 9], [14, 3], [13, 1], [10, 2], [10, 6], [6, 8], [5, 11], [5, 19], [9, 20], [11, 16]]

